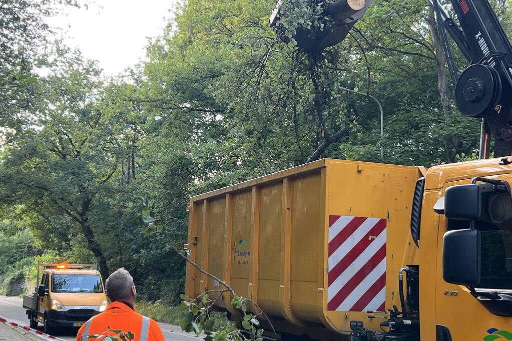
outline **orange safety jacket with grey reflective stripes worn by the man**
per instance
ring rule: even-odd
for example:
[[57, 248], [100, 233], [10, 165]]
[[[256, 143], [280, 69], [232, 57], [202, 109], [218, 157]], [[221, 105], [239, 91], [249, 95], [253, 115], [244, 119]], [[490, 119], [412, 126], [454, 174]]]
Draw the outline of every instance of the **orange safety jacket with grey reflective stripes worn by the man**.
[[[105, 311], [93, 316], [81, 326], [78, 334], [76, 334], [76, 341], [95, 341], [97, 339], [101, 340], [103, 336], [117, 335], [113, 331], [105, 333], [109, 329], [120, 329], [124, 333], [131, 331], [135, 335], [133, 341], [165, 340], [158, 323], [139, 314], [129, 305], [116, 301], [109, 304]], [[87, 337], [93, 334], [103, 334], [103, 336], [97, 339]]]

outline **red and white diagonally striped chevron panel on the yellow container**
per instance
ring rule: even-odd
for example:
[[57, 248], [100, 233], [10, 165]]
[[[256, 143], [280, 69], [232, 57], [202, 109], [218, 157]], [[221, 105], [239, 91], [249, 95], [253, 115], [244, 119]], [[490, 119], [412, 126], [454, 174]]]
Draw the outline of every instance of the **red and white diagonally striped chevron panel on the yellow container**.
[[386, 223], [329, 215], [327, 310], [385, 310]]

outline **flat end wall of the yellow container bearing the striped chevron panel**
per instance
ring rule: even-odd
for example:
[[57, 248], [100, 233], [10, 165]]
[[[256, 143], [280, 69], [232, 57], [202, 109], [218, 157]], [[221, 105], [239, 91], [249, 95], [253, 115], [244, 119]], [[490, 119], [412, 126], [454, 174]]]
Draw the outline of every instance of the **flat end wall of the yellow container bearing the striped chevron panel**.
[[332, 160], [328, 174], [324, 313], [339, 332], [350, 320], [379, 330], [381, 321], [365, 310], [399, 306], [398, 271], [414, 261], [416, 248], [409, 229], [418, 171]]

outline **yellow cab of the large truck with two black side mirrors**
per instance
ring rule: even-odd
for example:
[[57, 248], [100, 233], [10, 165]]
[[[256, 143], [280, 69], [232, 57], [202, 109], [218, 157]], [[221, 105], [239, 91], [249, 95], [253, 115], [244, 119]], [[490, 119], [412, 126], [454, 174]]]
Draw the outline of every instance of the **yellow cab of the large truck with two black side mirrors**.
[[416, 234], [421, 339], [512, 337], [509, 160], [435, 166], [425, 180]]

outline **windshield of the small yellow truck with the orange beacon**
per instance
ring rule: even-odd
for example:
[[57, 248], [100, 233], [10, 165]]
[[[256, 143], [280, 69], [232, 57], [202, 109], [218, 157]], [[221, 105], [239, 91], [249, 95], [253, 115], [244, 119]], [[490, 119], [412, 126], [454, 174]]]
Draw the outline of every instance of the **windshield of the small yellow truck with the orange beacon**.
[[52, 276], [53, 293], [102, 293], [103, 286], [98, 275], [68, 275]]

